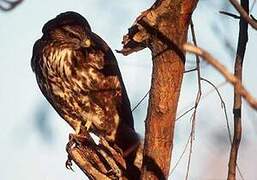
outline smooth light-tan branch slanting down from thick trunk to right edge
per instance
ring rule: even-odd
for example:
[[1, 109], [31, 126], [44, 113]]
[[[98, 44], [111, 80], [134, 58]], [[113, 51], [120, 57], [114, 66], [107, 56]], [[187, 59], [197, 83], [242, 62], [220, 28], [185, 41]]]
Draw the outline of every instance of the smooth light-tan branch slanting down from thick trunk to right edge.
[[224, 78], [230, 82], [234, 87], [237, 88], [238, 93], [249, 103], [249, 105], [257, 110], [257, 100], [245, 89], [242, 83], [232, 74], [229, 70], [221, 64], [217, 59], [215, 59], [210, 53], [207, 51], [196, 47], [192, 44], [184, 44], [184, 50], [197, 54], [201, 56], [206, 62], [211, 64], [216, 70], [218, 70]]

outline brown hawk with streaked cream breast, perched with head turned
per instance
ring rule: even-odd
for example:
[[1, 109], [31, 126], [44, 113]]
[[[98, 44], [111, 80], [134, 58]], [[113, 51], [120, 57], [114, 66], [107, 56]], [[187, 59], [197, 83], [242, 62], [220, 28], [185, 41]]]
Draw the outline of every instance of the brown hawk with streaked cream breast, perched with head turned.
[[117, 61], [81, 15], [47, 22], [33, 48], [38, 85], [77, 133], [81, 126], [125, 150], [138, 141]]

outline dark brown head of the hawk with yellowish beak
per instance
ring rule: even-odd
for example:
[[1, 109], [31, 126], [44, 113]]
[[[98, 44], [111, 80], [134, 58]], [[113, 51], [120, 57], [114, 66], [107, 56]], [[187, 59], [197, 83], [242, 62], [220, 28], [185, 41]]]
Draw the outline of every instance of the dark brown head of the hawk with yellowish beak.
[[87, 20], [76, 12], [65, 12], [48, 21], [43, 33], [56, 41], [68, 42], [74, 48], [88, 48], [92, 45], [91, 28]]

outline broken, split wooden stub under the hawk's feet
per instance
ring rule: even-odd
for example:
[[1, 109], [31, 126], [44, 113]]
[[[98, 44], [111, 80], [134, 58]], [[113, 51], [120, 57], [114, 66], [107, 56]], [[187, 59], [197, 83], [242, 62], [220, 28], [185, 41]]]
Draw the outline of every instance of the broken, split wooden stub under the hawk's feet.
[[[71, 140], [66, 150], [70, 160], [73, 160], [91, 179], [127, 178], [124, 174], [127, 171], [126, 162], [121, 152], [111, 147], [103, 137], [97, 145], [89, 134], [84, 134], [76, 142]], [[70, 160], [68, 160], [69, 166], [71, 166]]]

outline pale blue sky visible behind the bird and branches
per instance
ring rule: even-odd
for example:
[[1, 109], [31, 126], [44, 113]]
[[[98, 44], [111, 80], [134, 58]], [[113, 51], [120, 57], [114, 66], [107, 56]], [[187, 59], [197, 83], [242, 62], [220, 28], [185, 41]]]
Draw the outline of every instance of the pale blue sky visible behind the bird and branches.
[[[0, 179], [1, 180], [79, 180], [84, 174], [65, 169], [65, 145], [72, 129], [57, 115], [42, 96], [30, 67], [34, 42], [41, 37], [44, 23], [59, 13], [72, 10], [86, 17], [92, 29], [110, 47], [121, 49], [127, 29], [140, 12], [154, 0], [24, 0], [10, 12], [0, 12]], [[235, 12], [222, 1], [199, 2], [193, 15], [198, 44], [214, 54], [233, 71], [234, 49], [237, 43], [238, 23], [222, 16], [219, 10]], [[254, 7], [252, 13], [257, 14]], [[255, 96], [257, 92], [256, 55], [257, 33], [249, 28], [249, 43], [244, 63], [244, 85]], [[189, 41], [190, 41], [189, 35]], [[224, 42], [232, 47], [227, 48]], [[122, 56], [115, 54], [134, 107], [150, 88], [151, 55], [149, 50]], [[194, 65], [194, 57], [187, 56], [186, 68]], [[202, 76], [219, 85], [224, 78], [215, 69], [201, 64]], [[224, 84], [224, 83], [223, 83]], [[204, 96], [196, 120], [190, 179], [226, 179], [229, 141], [226, 122], [217, 94], [203, 83]], [[232, 128], [233, 88], [228, 83], [220, 92], [226, 102]], [[211, 93], [208, 93], [211, 92]], [[197, 93], [195, 73], [185, 74], [179, 100], [178, 116], [193, 106]], [[143, 138], [148, 99], [133, 112], [136, 130]], [[257, 113], [244, 102], [243, 139], [239, 166], [245, 179], [256, 177]], [[174, 165], [179, 159], [190, 133], [190, 115], [176, 123], [173, 149]], [[171, 179], [184, 179], [188, 151]], [[173, 166], [172, 165], [172, 166]], [[84, 178], [85, 179], [85, 178]]]

